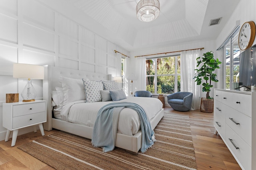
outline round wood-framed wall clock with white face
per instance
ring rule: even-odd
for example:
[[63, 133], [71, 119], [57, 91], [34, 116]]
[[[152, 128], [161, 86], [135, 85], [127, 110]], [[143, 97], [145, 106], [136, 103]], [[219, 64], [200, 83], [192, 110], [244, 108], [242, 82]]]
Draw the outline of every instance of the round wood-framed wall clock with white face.
[[255, 39], [256, 27], [254, 21], [245, 22], [239, 32], [238, 45], [241, 50], [252, 46]]

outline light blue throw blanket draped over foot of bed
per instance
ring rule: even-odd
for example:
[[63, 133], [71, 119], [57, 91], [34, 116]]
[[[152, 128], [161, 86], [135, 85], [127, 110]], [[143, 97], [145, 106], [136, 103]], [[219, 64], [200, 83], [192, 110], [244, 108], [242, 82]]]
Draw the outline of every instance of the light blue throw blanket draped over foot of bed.
[[131, 102], [115, 102], [107, 104], [99, 110], [92, 131], [92, 145], [94, 147], [103, 147], [103, 152], [114, 150], [119, 114], [124, 107], [134, 109], [140, 117], [142, 132], [140, 151], [144, 153], [154, 144], [154, 131], [144, 109]]

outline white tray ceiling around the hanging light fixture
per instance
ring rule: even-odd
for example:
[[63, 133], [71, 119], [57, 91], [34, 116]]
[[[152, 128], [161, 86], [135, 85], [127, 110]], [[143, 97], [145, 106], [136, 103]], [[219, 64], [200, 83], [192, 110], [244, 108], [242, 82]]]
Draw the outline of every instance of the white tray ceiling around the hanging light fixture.
[[[159, 0], [160, 15], [151, 22], [142, 22], [136, 18], [136, 5], [139, 0], [41, 2], [62, 14], [69, 14], [72, 20], [82, 23], [124, 49], [136, 51], [216, 39], [239, 1]], [[221, 18], [219, 23], [209, 26], [210, 21], [217, 18]]]

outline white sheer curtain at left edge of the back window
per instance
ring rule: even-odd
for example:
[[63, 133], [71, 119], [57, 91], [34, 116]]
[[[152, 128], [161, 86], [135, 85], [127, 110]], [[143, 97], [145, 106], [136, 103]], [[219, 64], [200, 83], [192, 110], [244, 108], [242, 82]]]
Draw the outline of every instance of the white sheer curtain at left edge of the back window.
[[137, 90], [146, 90], [146, 57], [136, 57]]

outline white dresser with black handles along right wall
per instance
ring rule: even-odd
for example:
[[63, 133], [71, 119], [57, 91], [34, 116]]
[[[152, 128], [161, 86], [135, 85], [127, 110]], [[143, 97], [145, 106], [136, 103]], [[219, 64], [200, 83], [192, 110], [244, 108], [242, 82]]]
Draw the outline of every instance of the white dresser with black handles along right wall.
[[214, 89], [215, 134], [244, 170], [256, 169], [256, 92]]

